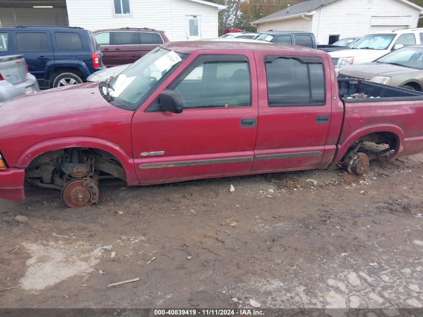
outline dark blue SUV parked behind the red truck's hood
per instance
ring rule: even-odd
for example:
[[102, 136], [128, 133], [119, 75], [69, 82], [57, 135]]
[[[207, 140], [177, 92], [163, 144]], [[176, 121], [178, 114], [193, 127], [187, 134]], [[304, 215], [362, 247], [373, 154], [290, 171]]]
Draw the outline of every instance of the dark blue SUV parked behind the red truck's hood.
[[76, 27], [1, 28], [0, 56], [23, 55], [41, 88], [83, 83], [103, 69], [91, 31]]

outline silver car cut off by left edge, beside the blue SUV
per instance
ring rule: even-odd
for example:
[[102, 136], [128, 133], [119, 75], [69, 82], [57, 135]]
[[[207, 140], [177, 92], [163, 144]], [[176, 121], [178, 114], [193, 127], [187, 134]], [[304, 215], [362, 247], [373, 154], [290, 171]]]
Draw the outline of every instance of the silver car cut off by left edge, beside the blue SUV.
[[0, 105], [9, 99], [37, 93], [37, 79], [22, 55], [0, 56]]

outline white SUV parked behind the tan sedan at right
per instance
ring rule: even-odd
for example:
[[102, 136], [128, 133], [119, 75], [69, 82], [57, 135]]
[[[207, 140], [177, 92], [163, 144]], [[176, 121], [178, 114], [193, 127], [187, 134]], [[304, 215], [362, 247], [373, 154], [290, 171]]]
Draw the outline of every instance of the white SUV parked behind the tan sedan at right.
[[404, 46], [421, 44], [420, 38], [423, 38], [423, 28], [378, 32], [362, 37], [347, 50], [329, 54], [338, 71], [347, 65], [372, 62]]

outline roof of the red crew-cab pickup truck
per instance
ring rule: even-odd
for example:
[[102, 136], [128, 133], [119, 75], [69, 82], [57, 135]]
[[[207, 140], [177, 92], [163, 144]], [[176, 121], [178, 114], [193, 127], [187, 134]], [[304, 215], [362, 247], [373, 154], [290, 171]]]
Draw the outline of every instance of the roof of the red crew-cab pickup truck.
[[228, 51], [228, 50], [256, 50], [256, 51], [287, 51], [287, 52], [313, 52], [326, 54], [323, 51], [310, 49], [297, 45], [280, 45], [258, 42], [216, 42], [216, 41], [185, 41], [185, 42], [169, 42], [161, 45], [161, 47], [179, 53], [192, 53], [199, 50], [215, 50], [215, 51]]

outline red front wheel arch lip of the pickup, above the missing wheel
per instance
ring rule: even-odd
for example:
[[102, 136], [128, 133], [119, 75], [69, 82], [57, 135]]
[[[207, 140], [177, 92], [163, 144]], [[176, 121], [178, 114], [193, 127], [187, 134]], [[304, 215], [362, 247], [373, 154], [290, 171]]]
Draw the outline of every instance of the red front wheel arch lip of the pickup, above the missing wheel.
[[110, 141], [94, 137], [64, 137], [45, 140], [26, 149], [18, 159], [17, 167], [25, 168], [37, 156], [55, 150], [70, 147], [95, 148], [109, 152], [114, 155], [122, 164], [128, 185], [138, 185], [138, 178], [135, 173], [134, 160], [128, 156], [124, 149]]

